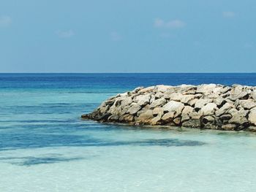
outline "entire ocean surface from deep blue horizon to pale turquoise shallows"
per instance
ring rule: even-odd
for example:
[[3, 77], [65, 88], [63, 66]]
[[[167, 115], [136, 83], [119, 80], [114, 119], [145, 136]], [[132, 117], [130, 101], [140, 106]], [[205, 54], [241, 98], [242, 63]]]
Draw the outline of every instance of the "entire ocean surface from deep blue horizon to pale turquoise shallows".
[[81, 120], [138, 86], [256, 74], [0, 74], [0, 191], [256, 191], [256, 134]]

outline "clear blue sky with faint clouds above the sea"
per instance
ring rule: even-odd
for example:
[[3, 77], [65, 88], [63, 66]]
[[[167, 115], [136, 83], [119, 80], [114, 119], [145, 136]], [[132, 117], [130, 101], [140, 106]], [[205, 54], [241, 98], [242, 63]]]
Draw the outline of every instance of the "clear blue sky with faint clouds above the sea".
[[0, 72], [256, 72], [256, 1], [0, 0]]

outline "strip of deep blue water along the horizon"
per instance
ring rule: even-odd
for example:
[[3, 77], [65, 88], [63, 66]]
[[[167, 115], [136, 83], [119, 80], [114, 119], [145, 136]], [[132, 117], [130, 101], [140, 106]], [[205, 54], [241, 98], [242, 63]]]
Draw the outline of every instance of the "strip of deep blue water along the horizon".
[[[256, 85], [256, 73], [0, 74], [0, 88], [130, 89], [150, 85]], [[99, 90], [98, 90], [99, 91]]]

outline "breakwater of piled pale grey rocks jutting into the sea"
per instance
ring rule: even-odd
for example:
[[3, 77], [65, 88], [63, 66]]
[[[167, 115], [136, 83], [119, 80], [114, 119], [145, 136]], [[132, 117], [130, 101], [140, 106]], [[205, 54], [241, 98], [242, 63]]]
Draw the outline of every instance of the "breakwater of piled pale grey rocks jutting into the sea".
[[134, 125], [256, 131], [256, 87], [215, 84], [139, 87], [110, 97], [82, 118]]

